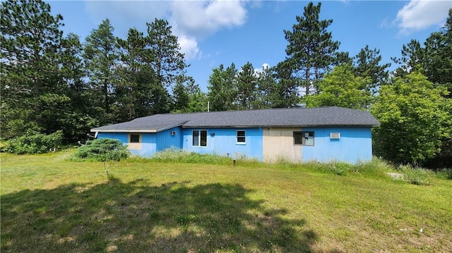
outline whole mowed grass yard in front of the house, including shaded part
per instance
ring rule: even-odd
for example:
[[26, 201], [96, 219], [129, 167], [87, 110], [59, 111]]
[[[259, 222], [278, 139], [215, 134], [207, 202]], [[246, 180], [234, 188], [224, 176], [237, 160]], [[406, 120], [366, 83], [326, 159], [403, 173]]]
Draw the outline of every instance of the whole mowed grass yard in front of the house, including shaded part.
[[451, 180], [70, 155], [0, 154], [1, 252], [452, 251]]

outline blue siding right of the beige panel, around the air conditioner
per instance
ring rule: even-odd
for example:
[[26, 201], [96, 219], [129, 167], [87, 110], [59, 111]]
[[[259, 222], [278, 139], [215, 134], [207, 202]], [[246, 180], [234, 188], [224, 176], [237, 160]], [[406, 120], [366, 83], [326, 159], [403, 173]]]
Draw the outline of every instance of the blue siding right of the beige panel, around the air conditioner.
[[[314, 146], [302, 147], [302, 161], [345, 161], [357, 163], [372, 159], [371, 128], [303, 128], [314, 131]], [[331, 140], [330, 132], [340, 132]]]

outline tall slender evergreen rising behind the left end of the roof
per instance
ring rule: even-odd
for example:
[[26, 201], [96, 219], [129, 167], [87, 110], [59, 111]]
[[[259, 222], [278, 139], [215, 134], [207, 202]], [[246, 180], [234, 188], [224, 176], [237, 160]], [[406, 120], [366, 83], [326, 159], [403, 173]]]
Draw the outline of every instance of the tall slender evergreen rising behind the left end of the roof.
[[101, 125], [117, 122], [112, 113], [112, 94], [115, 90], [115, 70], [119, 56], [113, 31], [109, 20], [102, 20], [97, 29], [85, 38], [83, 52], [90, 83], [90, 99]]

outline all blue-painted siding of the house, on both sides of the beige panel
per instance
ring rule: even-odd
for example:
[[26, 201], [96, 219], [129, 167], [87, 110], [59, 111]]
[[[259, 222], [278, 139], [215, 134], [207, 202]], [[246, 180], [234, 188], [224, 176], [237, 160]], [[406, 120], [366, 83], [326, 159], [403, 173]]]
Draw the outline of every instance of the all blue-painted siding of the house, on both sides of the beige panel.
[[[192, 146], [192, 131], [207, 130], [207, 147]], [[246, 131], [246, 142], [237, 143], [237, 130]], [[372, 158], [371, 128], [302, 128], [314, 131], [314, 146], [302, 146], [303, 162], [345, 161], [357, 163]], [[176, 135], [171, 135], [175, 131]], [[339, 140], [331, 140], [330, 132], [340, 132]], [[215, 135], [212, 135], [215, 134]], [[126, 132], [99, 132], [97, 138], [114, 138], [127, 144]], [[292, 146], [293, 144], [291, 144]], [[187, 152], [218, 154], [237, 158], [246, 156], [263, 161], [262, 128], [171, 128], [156, 133], [141, 133], [141, 149], [130, 149], [132, 154], [151, 156], [170, 147]]]

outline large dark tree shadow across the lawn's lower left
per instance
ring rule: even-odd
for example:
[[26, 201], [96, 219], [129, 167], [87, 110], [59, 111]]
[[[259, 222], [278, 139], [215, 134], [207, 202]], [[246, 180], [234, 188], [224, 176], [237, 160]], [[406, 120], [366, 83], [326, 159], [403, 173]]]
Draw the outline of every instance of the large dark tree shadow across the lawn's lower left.
[[1, 252], [312, 252], [304, 219], [241, 185], [143, 180], [1, 196]]

